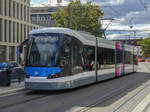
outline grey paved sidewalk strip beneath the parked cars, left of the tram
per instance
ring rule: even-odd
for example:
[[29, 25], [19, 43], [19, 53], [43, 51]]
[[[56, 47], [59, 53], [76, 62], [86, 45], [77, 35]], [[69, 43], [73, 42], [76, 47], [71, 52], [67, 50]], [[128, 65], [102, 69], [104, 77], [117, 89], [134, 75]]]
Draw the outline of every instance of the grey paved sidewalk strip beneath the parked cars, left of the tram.
[[16, 91], [21, 91], [24, 89], [24, 82], [11, 83], [11, 86], [8, 87], [0, 87], [0, 95], [9, 94]]

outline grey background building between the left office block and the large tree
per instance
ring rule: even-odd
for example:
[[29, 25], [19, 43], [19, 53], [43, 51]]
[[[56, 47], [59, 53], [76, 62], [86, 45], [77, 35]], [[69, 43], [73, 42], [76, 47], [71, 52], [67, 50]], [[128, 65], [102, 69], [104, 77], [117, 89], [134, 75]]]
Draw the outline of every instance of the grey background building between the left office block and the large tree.
[[56, 12], [58, 7], [32, 7], [31, 8], [31, 21], [33, 24], [53, 27], [55, 22], [51, 15]]

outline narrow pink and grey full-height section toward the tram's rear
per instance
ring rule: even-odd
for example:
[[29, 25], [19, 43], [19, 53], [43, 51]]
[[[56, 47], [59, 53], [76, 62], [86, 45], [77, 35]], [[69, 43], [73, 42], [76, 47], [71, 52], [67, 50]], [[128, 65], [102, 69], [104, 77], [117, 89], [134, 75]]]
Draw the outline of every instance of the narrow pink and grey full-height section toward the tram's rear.
[[120, 41], [117, 41], [115, 76], [121, 76], [123, 74], [124, 74], [124, 44]]

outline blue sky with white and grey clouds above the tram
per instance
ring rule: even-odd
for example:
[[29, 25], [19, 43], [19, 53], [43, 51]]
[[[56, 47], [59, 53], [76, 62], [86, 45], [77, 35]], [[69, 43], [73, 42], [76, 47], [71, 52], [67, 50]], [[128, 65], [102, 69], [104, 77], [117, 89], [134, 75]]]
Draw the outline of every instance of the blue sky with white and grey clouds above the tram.
[[[31, 0], [32, 5], [47, 2], [48, 0]], [[67, 0], [66, 0], [67, 1]], [[64, 4], [66, 3], [63, 2]], [[107, 28], [108, 39], [147, 37], [150, 34], [150, 0], [82, 0], [92, 1], [100, 6], [104, 12], [103, 18], [111, 18], [113, 21]], [[110, 20], [103, 20], [103, 28]], [[130, 28], [130, 26], [133, 26]], [[110, 31], [113, 30], [113, 31]], [[119, 31], [118, 31], [119, 30]], [[130, 31], [120, 31], [130, 30]]]

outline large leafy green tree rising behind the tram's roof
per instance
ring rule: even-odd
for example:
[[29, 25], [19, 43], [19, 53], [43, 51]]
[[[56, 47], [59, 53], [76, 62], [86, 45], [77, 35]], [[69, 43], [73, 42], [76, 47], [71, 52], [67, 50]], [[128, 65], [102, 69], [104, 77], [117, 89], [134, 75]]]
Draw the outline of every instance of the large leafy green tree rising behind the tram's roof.
[[91, 2], [82, 4], [80, 0], [72, 1], [68, 6], [59, 8], [52, 18], [56, 26], [90, 32], [102, 37], [101, 22], [103, 16], [100, 8]]

